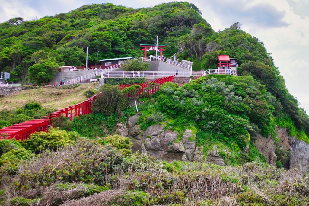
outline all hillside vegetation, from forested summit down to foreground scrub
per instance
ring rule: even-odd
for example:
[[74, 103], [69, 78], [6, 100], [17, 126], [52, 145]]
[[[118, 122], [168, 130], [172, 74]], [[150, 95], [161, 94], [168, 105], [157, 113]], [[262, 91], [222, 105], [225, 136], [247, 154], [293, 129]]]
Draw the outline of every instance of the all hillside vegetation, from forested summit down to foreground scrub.
[[[294, 142], [303, 140], [305, 146], [299, 148], [308, 148], [307, 114], [286, 89], [263, 42], [239, 23], [214, 32], [200, 14], [188, 2], [141, 9], [106, 3], [0, 24], [0, 68], [11, 72], [12, 80], [48, 81], [58, 66], [83, 65], [87, 46], [89, 64], [96, 63], [97, 51], [99, 59], [143, 56], [139, 44], [154, 43], [156, 35], [159, 44], [168, 45], [166, 57], [181, 51], [177, 58], [193, 61], [199, 71], [216, 68], [218, 55], [227, 54], [237, 58], [240, 74], [202, 76], [182, 86], [168, 82], [150, 96], [139, 96], [137, 85], [119, 90], [104, 84], [91, 114], [72, 121], [53, 118], [54, 129], [24, 142], [0, 140], [0, 203], [307, 205], [308, 165], [281, 168], [292, 157], [291, 147], [281, 145], [276, 131], [282, 127]], [[90, 89], [78, 88], [67, 94], [68, 104], [83, 99], [82, 89]], [[53, 88], [44, 92], [51, 94]], [[80, 95], [75, 98], [72, 92]], [[20, 106], [25, 103], [23, 95], [13, 98]], [[44, 108], [32, 103], [35, 108], [0, 112], [2, 126], [57, 106], [36, 101]], [[258, 150], [258, 137], [273, 142], [273, 165]]]

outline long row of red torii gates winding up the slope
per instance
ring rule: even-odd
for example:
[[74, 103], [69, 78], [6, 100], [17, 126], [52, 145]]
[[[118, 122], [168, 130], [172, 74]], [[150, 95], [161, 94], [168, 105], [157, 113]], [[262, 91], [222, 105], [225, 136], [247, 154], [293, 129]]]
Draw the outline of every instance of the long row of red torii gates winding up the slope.
[[[156, 83], [159, 85], [162, 85], [165, 82], [175, 82], [175, 75], [164, 77], [161, 79], [156, 79], [152, 81], [151, 83]], [[149, 82], [139, 84], [142, 86], [142, 90], [140, 91], [140, 94], [142, 94], [145, 90], [145, 88], [148, 87]], [[120, 85], [119, 88], [123, 89], [125, 87], [132, 86], [132, 84], [124, 84]], [[159, 86], [155, 86], [155, 88], [152, 88], [152, 91], [148, 90], [149, 94], [154, 93], [156, 91], [159, 91]], [[49, 116], [43, 116], [43, 119], [33, 119], [27, 122], [22, 122], [19, 124], [14, 124], [9, 127], [5, 127], [0, 129], [0, 134], [3, 135], [6, 139], [15, 138], [16, 140], [25, 140], [30, 138], [30, 135], [34, 132], [40, 132], [45, 131], [48, 132], [49, 126], [52, 124], [51, 118], [53, 117], [60, 117], [60, 115], [64, 115], [69, 120], [72, 120], [72, 118], [80, 115], [90, 114], [91, 113], [91, 103], [95, 101], [96, 95], [93, 97], [88, 98], [87, 100], [76, 104], [69, 106], [64, 109], [60, 109], [57, 112], [51, 113]], [[0, 137], [1, 139], [1, 137]]]

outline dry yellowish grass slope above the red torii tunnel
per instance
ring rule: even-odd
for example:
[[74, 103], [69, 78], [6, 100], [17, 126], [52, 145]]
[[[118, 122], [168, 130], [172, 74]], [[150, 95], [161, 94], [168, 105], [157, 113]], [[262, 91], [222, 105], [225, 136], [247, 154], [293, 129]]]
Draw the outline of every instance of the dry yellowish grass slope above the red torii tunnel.
[[83, 93], [95, 88], [97, 83], [82, 84], [76, 88], [37, 88], [22, 90], [15, 94], [0, 98], [0, 110], [15, 109], [29, 101], [37, 101], [43, 107], [62, 109], [86, 99]]

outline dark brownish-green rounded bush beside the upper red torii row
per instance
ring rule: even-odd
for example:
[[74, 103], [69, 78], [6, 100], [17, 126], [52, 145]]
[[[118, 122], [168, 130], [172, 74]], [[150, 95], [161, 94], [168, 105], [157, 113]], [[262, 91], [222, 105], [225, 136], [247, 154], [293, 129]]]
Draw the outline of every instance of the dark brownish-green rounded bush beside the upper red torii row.
[[126, 99], [117, 86], [104, 84], [98, 91], [96, 100], [92, 103], [91, 109], [94, 113], [104, 113], [109, 116], [125, 109]]

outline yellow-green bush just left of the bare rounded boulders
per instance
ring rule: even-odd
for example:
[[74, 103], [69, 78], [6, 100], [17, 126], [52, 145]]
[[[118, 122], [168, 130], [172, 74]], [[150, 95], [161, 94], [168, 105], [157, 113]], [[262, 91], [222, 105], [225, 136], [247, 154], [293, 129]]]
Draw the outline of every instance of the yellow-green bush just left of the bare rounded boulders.
[[133, 147], [133, 143], [131, 142], [129, 137], [111, 135], [103, 137], [103, 139], [99, 139], [99, 143], [102, 145], [111, 145], [112, 147], [119, 150], [119, 152], [124, 156], [128, 156], [132, 153], [131, 148]]

